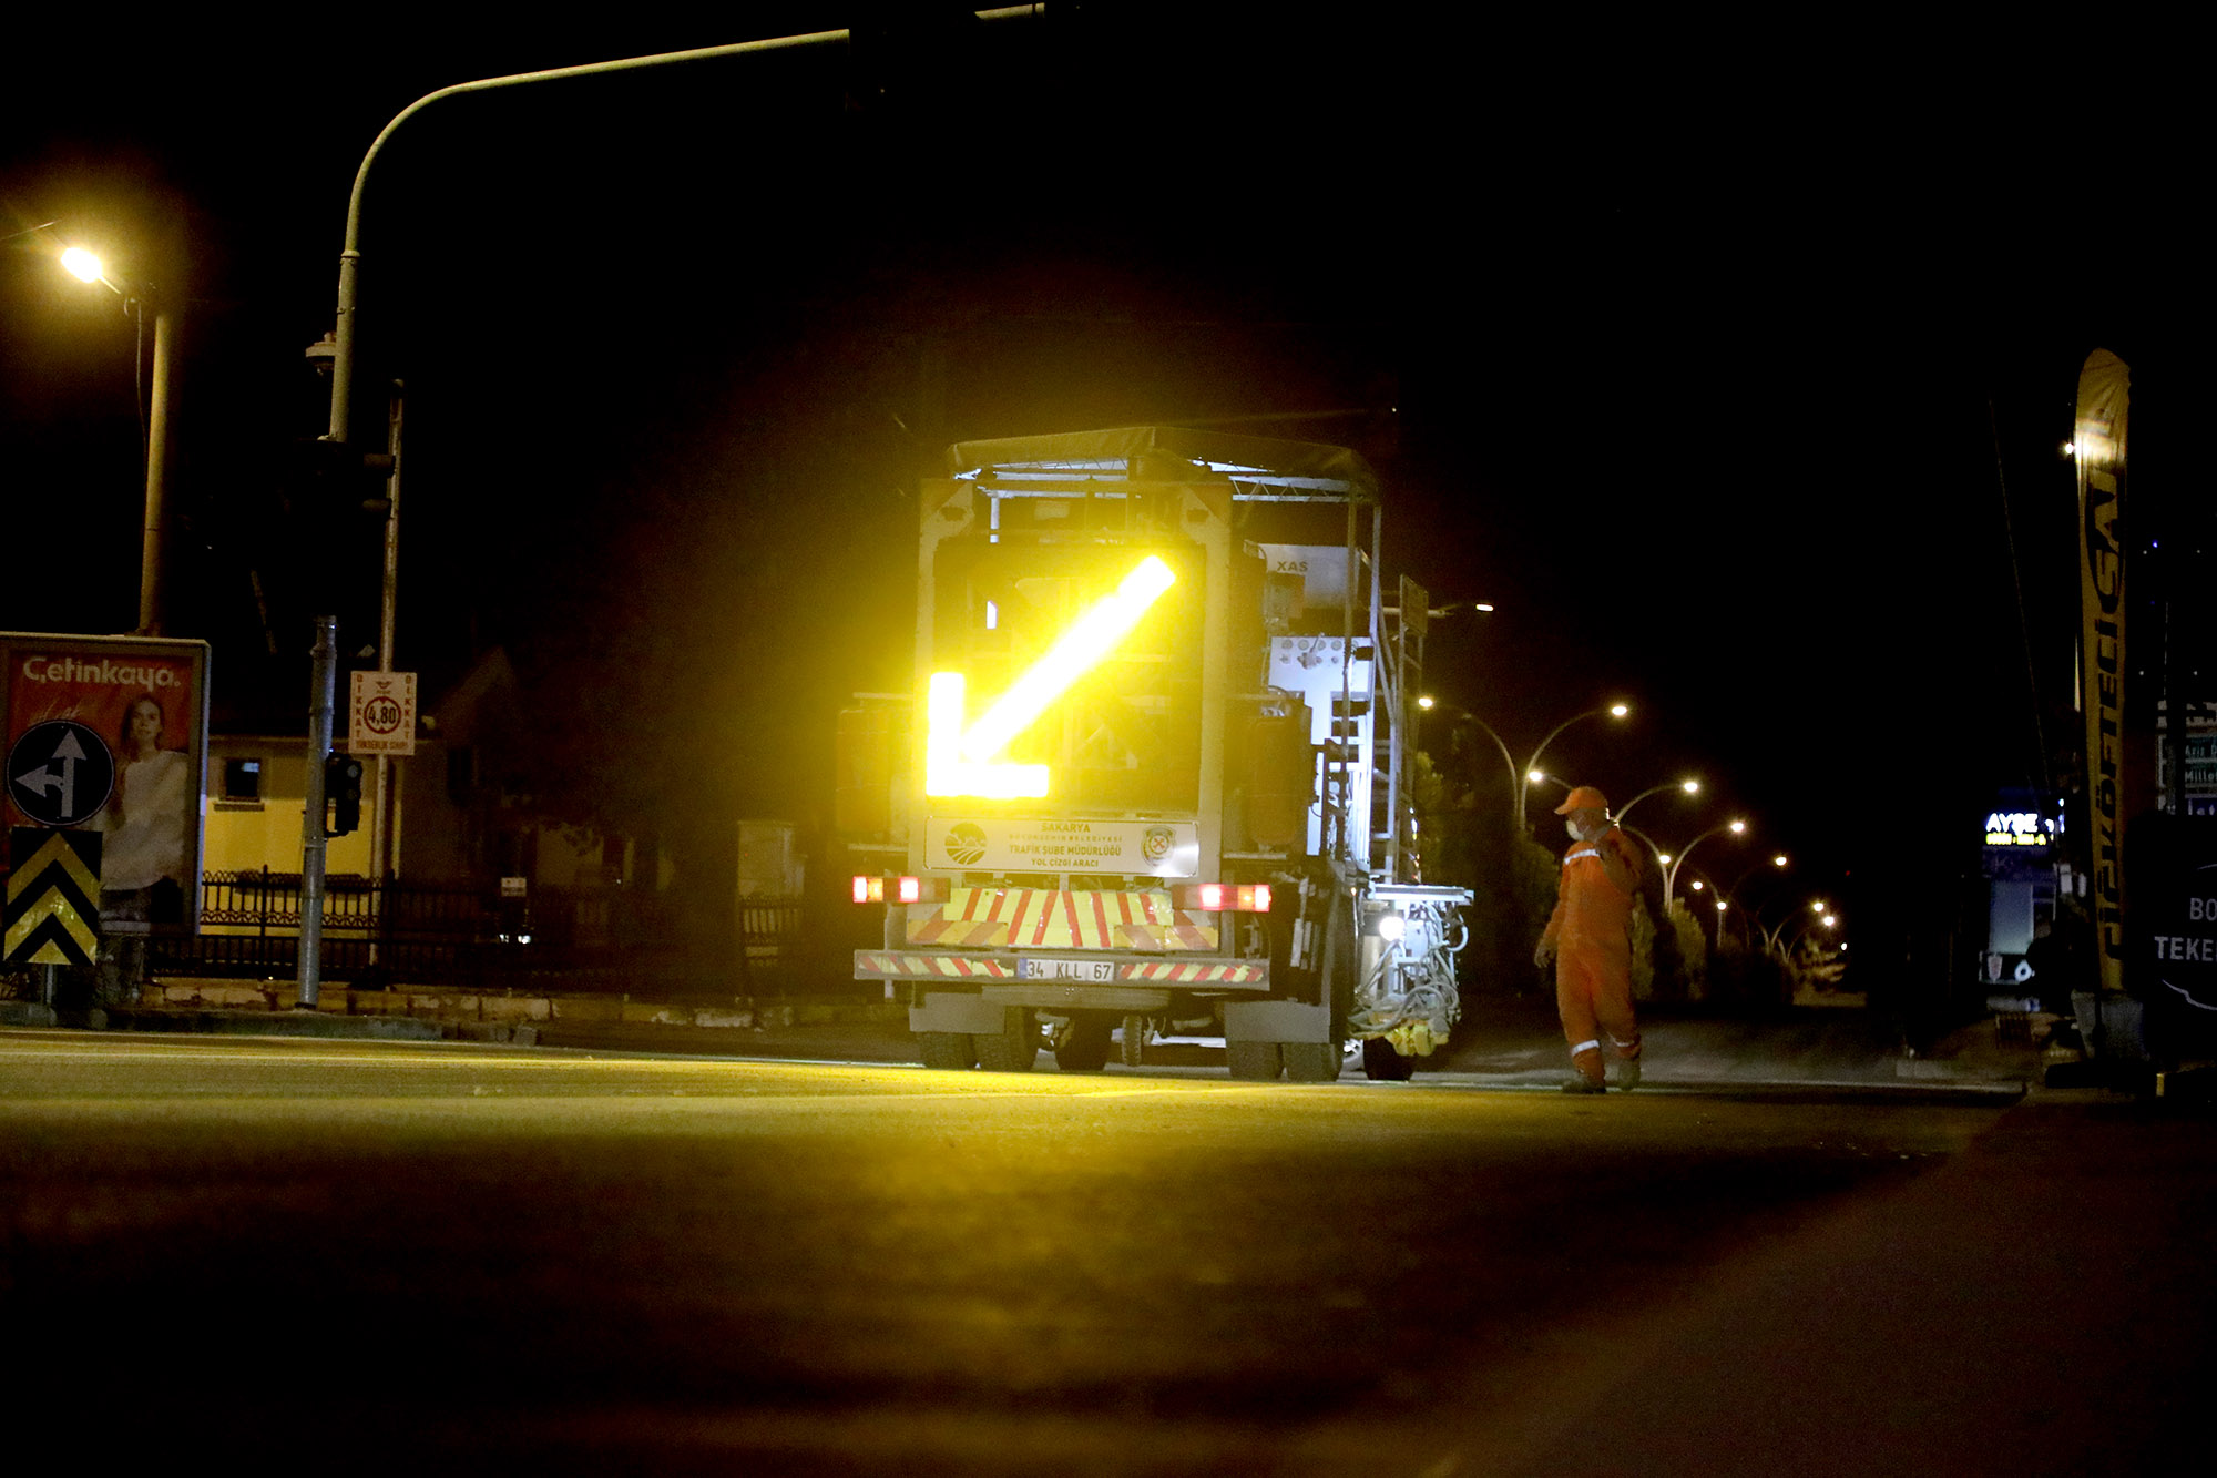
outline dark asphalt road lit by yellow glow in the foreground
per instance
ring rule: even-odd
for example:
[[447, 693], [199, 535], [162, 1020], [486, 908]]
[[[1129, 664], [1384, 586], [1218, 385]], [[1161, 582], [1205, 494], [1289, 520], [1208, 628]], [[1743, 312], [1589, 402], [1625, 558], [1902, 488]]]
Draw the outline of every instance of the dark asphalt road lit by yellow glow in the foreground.
[[86, 1456], [1638, 1471], [1596, 1391], [2006, 1112], [0, 1032], [0, 1327]]

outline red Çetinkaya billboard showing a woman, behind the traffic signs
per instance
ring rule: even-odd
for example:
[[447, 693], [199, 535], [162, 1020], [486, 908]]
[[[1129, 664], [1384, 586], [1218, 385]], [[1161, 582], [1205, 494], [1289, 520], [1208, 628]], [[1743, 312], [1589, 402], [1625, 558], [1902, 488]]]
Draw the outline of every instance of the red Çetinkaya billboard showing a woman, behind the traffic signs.
[[100, 930], [191, 934], [208, 794], [208, 644], [0, 632], [0, 817], [100, 834]]

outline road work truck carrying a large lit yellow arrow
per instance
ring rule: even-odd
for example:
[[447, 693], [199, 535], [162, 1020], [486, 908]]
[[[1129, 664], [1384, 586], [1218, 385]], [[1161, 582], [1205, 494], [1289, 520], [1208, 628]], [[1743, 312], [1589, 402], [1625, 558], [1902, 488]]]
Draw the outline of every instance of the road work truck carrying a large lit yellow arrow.
[[1093, 1072], [1222, 1032], [1233, 1076], [1406, 1079], [1468, 890], [1419, 881], [1426, 593], [1352, 451], [1175, 426], [964, 442], [918, 499], [916, 675], [838, 728], [882, 865], [856, 979], [931, 1067]]

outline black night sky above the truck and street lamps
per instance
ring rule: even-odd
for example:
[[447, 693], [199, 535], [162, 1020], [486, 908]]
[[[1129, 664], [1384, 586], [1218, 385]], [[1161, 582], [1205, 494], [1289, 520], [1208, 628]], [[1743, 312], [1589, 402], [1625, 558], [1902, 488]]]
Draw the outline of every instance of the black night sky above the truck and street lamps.
[[[2162, 424], [2135, 402], [2135, 453], [2146, 431], [2184, 466], [2199, 428], [2175, 135], [2122, 62], [1210, 16], [1062, 7], [410, 122], [364, 240], [364, 333], [410, 386], [399, 666], [437, 686], [505, 641], [570, 732], [636, 735], [650, 788], [820, 808], [794, 794], [825, 783], [838, 697], [902, 677], [902, 488], [936, 446], [1366, 411], [1281, 431], [1379, 464], [1390, 573], [1499, 604], [1443, 628], [1430, 686], [1512, 743], [1629, 695], [1636, 728], [1552, 759], [1616, 794], [1694, 768], [1811, 874], [1862, 879], [1920, 877], [1907, 852], [2031, 779], [2006, 537], [2062, 701], [2080, 360], [2126, 355], [2155, 406], [2170, 386]], [[219, 703], [302, 708], [313, 597], [259, 510], [321, 428], [302, 348], [377, 129], [477, 75], [851, 22], [494, 33], [403, 7], [370, 40], [98, 49], [31, 22], [53, 29], [9, 64], [7, 229], [135, 244], [193, 297], [173, 628], [217, 644]], [[2088, 75], [2131, 109], [2102, 118]], [[0, 626], [124, 630], [129, 326], [20, 246]], [[1696, 826], [1663, 806], [1658, 834]]]

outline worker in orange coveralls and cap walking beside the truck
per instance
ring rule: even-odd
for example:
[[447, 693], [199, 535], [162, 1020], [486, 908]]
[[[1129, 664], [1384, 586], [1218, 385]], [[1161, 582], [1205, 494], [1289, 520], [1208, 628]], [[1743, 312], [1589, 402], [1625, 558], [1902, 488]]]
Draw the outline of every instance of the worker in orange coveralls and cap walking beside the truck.
[[1634, 1087], [1641, 1030], [1632, 1021], [1632, 901], [1641, 892], [1641, 854], [1610, 823], [1610, 803], [1592, 786], [1572, 790], [1554, 814], [1570, 819], [1570, 850], [1532, 963], [1554, 961], [1554, 1008], [1572, 1065], [1563, 1092], [1607, 1090], [1603, 1032], [1621, 1063], [1616, 1087]]

